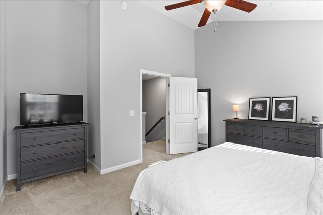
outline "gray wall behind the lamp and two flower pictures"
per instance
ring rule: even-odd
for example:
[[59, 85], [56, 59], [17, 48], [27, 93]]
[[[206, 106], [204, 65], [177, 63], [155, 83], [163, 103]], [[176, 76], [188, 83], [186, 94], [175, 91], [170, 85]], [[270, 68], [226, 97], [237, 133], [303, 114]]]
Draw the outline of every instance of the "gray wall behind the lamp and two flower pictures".
[[323, 21], [218, 22], [195, 31], [195, 76], [211, 88], [212, 145], [223, 119], [248, 118], [250, 97], [298, 96], [297, 121], [323, 115]]

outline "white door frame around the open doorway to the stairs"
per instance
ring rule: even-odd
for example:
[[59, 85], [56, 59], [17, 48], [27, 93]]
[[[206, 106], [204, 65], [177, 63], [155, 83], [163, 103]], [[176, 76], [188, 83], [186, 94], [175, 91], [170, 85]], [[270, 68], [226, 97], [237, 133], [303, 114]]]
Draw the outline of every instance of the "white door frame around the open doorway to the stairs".
[[169, 154], [170, 153], [170, 148], [169, 148], [169, 144], [168, 144], [168, 139], [169, 139], [169, 135], [170, 135], [170, 130], [169, 130], [169, 115], [168, 115], [168, 111], [169, 111], [169, 88], [168, 88], [168, 84], [170, 83], [170, 74], [166, 74], [166, 73], [158, 73], [157, 71], [150, 71], [150, 70], [145, 70], [145, 69], [140, 69], [140, 162], [143, 161], [142, 159], [142, 75], [143, 74], [147, 74], [147, 75], [153, 75], [153, 76], [159, 76], [159, 77], [165, 77], [166, 78], [166, 95], [165, 95], [165, 103], [166, 103], [166, 113], [165, 113], [165, 131], [166, 131], [166, 153]]

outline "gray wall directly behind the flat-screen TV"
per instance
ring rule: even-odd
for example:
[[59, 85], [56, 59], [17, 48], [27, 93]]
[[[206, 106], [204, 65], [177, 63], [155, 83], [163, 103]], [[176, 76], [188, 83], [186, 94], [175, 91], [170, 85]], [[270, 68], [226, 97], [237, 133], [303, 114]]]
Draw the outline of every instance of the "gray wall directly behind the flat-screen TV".
[[20, 93], [83, 95], [87, 121], [87, 7], [77, 1], [7, 2], [8, 175], [16, 173]]

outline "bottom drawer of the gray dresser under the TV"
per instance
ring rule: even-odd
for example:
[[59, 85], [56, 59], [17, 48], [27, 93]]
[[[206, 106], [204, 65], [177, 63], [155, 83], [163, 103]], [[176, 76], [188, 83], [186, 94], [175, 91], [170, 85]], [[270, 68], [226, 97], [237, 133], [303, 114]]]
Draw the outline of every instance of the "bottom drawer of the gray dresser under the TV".
[[84, 152], [29, 161], [20, 164], [21, 180], [84, 166]]

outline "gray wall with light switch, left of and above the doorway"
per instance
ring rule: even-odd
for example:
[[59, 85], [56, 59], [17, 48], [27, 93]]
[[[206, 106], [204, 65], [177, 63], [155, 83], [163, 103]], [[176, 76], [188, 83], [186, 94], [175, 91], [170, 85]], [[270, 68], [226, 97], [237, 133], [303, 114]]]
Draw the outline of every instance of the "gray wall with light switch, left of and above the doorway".
[[126, 10], [120, 1], [101, 2], [102, 169], [140, 159], [140, 69], [194, 77], [194, 31], [140, 2], [126, 2]]

